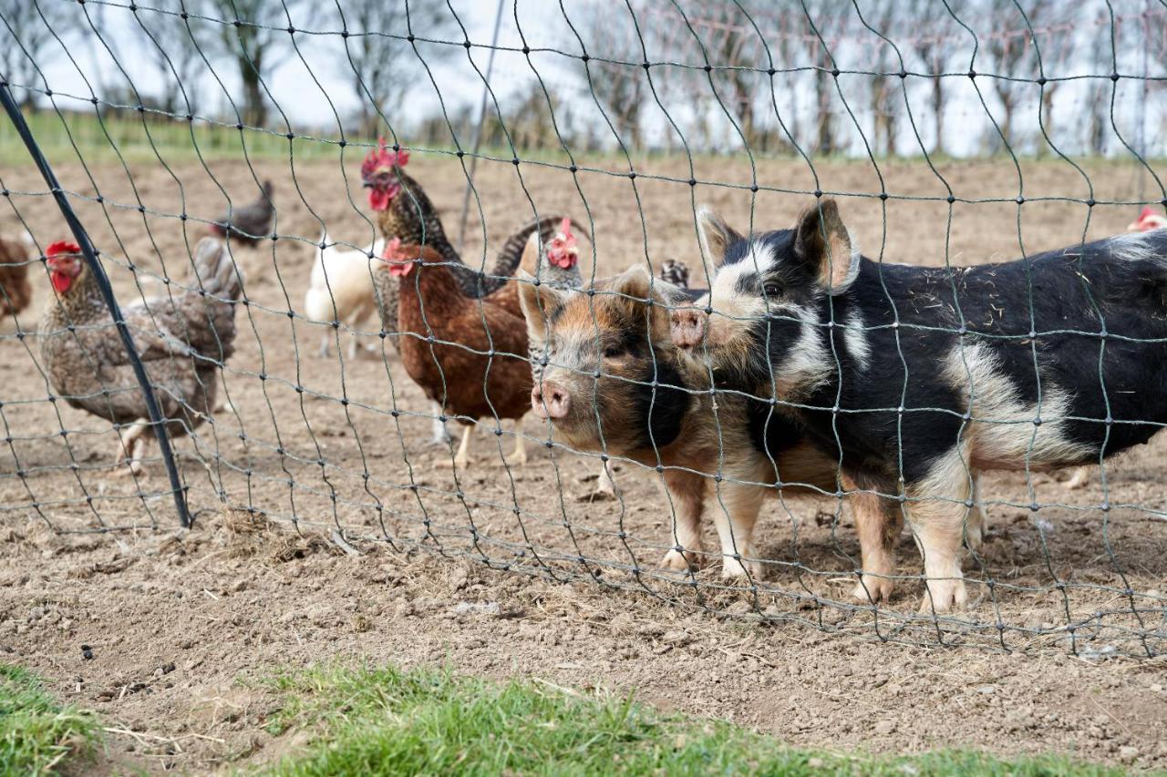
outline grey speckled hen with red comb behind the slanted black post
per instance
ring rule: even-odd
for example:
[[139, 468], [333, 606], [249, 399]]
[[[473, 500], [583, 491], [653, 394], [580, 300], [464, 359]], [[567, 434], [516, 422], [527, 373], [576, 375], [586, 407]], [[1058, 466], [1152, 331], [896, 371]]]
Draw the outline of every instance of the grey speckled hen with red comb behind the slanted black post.
[[[138, 452], [151, 428], [133, 365], [81, 249], [54, 243], [46, 252], [55, 299], [41, 320], [41, 359], [53, 390], [72, 407], [120, 428], [120, 452], [138, 475]], [[189, 434], [215, 408], [218, 372], [235, 352], [235, 312], [242, 280], [221, 240], [195, 249], [186, 290], [121, 308], [154, 386], [167, 430]]]

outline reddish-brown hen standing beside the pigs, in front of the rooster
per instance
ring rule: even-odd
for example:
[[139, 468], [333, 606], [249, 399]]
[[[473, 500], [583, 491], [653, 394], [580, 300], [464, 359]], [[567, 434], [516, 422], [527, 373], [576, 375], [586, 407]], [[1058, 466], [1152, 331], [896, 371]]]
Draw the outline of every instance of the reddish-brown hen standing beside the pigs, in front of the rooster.
[[[442, 412], [466, 426], [453, 464], [470, 463], [474, 422], [481, 418], [513, 419], [515, 453], [509, 464], [526, 462], [519, 434], [531, 407], [531, 365], [526, 323], [516, 316], [518, 287], [509, 284], [478, 300], [466, 298], [448, 265], [429, 246], [385, 246], [387, 267], [400, 282], [397, 326], [405, 371]], [[492, 354], [492, 356], [491, 356]]]

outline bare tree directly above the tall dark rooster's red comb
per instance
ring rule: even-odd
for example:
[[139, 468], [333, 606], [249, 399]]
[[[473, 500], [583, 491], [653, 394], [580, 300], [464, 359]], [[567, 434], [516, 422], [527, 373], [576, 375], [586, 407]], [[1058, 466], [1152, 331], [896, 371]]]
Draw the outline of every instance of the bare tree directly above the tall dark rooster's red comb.
[[[450, 40], [457, 34], [461, 40], [460, 29], [445, 0], [333, 2], [348, 33], [343, 38], [345, 60], [337, 63], [337, 72], [349, 80], [361, 105], [361, 132], [376, 135], [380, 116], [400, 105], [418, 79], [425, 77], [406, 36]], [[424, 56], [429, 63], [459, 50], [453, 46], [418, 46], [426, 47]]]

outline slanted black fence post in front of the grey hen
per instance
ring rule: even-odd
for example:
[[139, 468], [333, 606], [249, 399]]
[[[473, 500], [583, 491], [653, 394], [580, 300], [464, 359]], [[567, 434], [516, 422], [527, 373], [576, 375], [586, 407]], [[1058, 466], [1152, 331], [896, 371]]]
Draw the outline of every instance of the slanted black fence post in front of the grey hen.
[[74, 212], [72, 205], [69, 204], [69, 200], [65, 197], [64, 191], [61, 189], [61, 184], [57, 182], [57, 176], [54, 175], [48, 160], [46, 160], [44, 154], [41, 153], [41, 148], [37, 146], [36, 139], [33, 138], [33, 133], [28, 128], [28, 123], [25, 121], [25, 116], [16, 106], [16, 102], [13, 99], [12, 92], [8, 91], [7, 83], [0, 83], [0, 102], [4, 103], [4, 108], [8, 113], [8, 118], [12, 120], [13, 126], [16, 127], [20, 139], [25, 141], [25, 147], [28, 148], [29, 155], [33, 158], [33, 161], [36, 162], [36, 167], [40, 168], [41, 176], [49, 186], [49, 190], [53, 192], [53, 198], [57, 201], [57, 208], [61, 209], [61, 215], [64, 216], [65, 223], [69, 224], [69, 229], [72, 230], [74, 238], [76, 238], [77, 245], [81, 246], [81, 252], [85, 257], [85, 264], [89, 265], [89, 271], [93, 273], [93, 278], [97, 280], [97, 286], [102, 290], [102, 299], [105, 301], [105, 307], [110, 309], [110, 315], [113, 317], [113, 324], [118, 329], [118, 335], [121, 337], [121, 344], [125, 346], [126, 354], [130, 356], [130, 363], [134, 368], [134, 376], [138, 378], [138, 384], [141, 386], [142, 396], [146, 398], [146, 408], [149, 412], [151, 426], [154, 427], [154, 435], [158, 438], [158, 447], [162, 453], [162, 462], [166, 464], [166, 474], [170, 480], [170, 492], [174, 496], [174, 508], [179, 512], [179, 524], [184, 528], [189, 527], [190, 512], [187, 510], [186, 494], [182, 490], [182, 483], [179, 481], [179, 468], [174, 462], [174, 452], [170, 449], [170, 435], [166, 430], [166, 419], [162, 418], [162, 412], [159, 410], [158, 399], [154, 397], [154, 387], [151, 386], [149, 376], [146, 374], [146, 368], [142, 366], [141, 358], [138, 356], [138, 350], [134, 348], [134, 341], [130, 335], [130, 329], [126, 327], [126, 322], [121, 317], [121, 308], [118, 306], [118, 299], [113, 295], [113, 287], [110, 286], [110, 279], [106, 276], [105, 270], [102, 267], [102, 262], [97, 260], [97, 252], [93, 251], [93, 245], [89, 240], [89, 235], [85, 232], [85, 228], [82, 226], [81, 220], [77, 218], [77, 214]]

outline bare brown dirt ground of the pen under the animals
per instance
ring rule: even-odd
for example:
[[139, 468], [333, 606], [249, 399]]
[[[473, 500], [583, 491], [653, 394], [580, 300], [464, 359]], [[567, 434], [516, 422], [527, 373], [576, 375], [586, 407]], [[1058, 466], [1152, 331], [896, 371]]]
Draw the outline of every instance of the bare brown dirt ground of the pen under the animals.
[[[663, 574], [655, 565], [671, 536], [655, 473], [622, 464], [619, 501], [581, 501], [596, 460], [546, 449], [546, 432], [527, 419], [527, 467], [503, 467], [513, 439], [509, 426], [489, 434], [488, 421], [476, 464], [455, 481], [434, 466], [449, 452], [426, 444], [420, 390], [375, 331], [361, 334], [370, 350], [355, 360], [335, 348], [316, 356], [330, 329], [287, 313], [300, 308], [321, 220], [335, 239], [372, 239], [358, 164], [351, 153], [344, 166], [256, 163], [275, 182], [281, 239], [238, 252], [251, 304], [224, 376], [231, 405], [179, 443], [193, 531], [176, 530], [156, 462], [140, 484], [112, 477], [113, 432], [48, 401], [36, 338], [2, 330], [0, 421], [11, 442], [0, 453], [0, 659], [41, 671], [64, 699], [135, 732], [111, 734], [116, 757], [200, 771], [264, 757], [287, 743], [263, 733], [271, 700], [239, 679], [359, 657], [635, 690], [792, 744], [1055, 750], [1167, 766], [1162, 438], [1114, 461], [1105, 483], [1092, 471], [1079, 490], [1064, 475], [987, 476], [986, 544], [965, 562], [977, 601], [951, 618], [913, 617], [922, 594], [913, 580], [878, 611], [851, 604], [858, 542], [832, 499], [770, 504], [760, 531], [771, 562], [756, 594], [721, 586], [717, 569]], [[414, 154], [411, 166], [456, 235], [457, 161]], [[589, 216], [606, 275], [645, 257], [696, 264], [694, 203], [742, 229], [749, 220], [748, 164], [701, 160], [691, 174], [684, 160], [636, 160], [635, 180], [601, 167], [612, 174], [483, 163], [476, 183], [491, 245], [534, 212], [532, 202], [539, 214]], [[184, 276], [184, 239], [193, 245], [204, 230], [196, 219], [225, 206], [216, 180], [239, 202], [256, 191], [238, 162], [57, 172], [89, 198], [75, 202], [114, 258], [106, 264], [123, 300], [139, 287], [159, 293], [154, 275]], [[1020, 174], [1012, 162], [935, 173], [840, 162], [817, 167], [816, 181], [805, 164], [767, 161], [757, 181], [846, 192], [844, 217], [869, 257], [974, 264], [1123, 231], [1137, 208], [1065, 198], [1130, 201], [1135, 173], [1084, 172], [1050, 161]], [[951, 211], [945, 181], [958, 200]], [[42, 244], [65, 237], [35, 170], [6, 170], [0, 183]], [[755, 220], [788, 224], [808, 200], [761, 192]], [[183, 209], [194, 218], [177, 218]], [[477, 246], [471, 211], [468, 245]], [[16, 230], [12, 209], [0, 215], [4, 235]], [[39, 271], [34, 282], [39, 310], [48, 284]], [[36, 315], [19, 326], [32, 331]], [[1114, 505], [1106, 513], [1104, 498]], [[124, 531], [92, 532], [103, 526]], [[900, 558], [918, 574], [907, 534]]]

